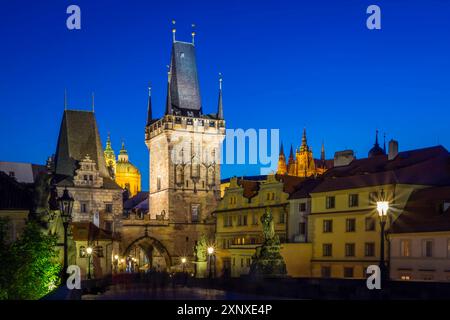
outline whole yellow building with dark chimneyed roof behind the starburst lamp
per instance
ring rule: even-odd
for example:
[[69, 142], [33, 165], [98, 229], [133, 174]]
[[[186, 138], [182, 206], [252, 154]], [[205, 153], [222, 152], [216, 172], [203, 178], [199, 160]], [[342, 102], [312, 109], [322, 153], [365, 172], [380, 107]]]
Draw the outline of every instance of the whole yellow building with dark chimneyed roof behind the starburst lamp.
[[[366, 278], [366, 268], [379, 264], [377, 201], [389, 204], [383, 239], [388, 263], [392, 223], [409, 214], [405, 206], [415, 190], [439, 183], [448, 171], [448, 152], [442, 147], [397, 150], [398, 143], [391, 140], [386, 154], [376, 139], [367, 158], [335, 165], [310, 192], [313, 277]], [[340, 163], [336, 157], [335, 162]]]

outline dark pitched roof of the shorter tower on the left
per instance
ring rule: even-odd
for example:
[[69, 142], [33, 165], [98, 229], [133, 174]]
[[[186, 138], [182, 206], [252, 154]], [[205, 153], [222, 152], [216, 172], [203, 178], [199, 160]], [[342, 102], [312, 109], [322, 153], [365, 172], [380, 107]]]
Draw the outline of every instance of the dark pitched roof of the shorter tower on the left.
[[55, 173], [73, 177], [77, 161], [87, 154], [95, 161], [100, 175], [109, 178], [94, 113], [65, 110], [56, 148]]

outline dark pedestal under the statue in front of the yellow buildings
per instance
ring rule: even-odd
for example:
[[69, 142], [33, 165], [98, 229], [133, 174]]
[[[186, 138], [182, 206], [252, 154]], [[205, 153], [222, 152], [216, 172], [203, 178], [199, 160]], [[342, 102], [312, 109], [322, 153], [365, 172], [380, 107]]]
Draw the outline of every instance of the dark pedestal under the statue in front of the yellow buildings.
[[280, 243], [278, 239], [270, 239], [261, 247], [256, 248], [250, 266], [252, 277], [286, 277], [286, 263], [280, 254]]

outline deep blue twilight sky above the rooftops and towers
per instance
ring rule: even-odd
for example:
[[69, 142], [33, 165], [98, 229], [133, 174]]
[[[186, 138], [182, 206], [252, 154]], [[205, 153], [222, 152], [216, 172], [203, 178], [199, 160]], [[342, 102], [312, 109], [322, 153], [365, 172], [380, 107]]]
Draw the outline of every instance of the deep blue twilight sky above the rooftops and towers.
[[[77, 4], [82, 29], [66, 28]], [[366, 8], [382, 10], [382, 30], [366, 28]], [[400, 149], [450, 147], [450, 1], [0, 2], [0, 160], [44, 163], [55, 152], [63, 113], [89, 109], [96, 95], [102, 142], [110, 131], [148, 186], [144, 144], [147, 83], [154, 113], [166, 96], [172, 19], [197, 59], [205, 112], [215, 112], [224, 74], [228, 128], [280, 128], [285, 146], [303, 127], [319, 155], [352, 148], [363, 157], [374, 131]], [[222, 177], [258, 174], [224, 166]]]

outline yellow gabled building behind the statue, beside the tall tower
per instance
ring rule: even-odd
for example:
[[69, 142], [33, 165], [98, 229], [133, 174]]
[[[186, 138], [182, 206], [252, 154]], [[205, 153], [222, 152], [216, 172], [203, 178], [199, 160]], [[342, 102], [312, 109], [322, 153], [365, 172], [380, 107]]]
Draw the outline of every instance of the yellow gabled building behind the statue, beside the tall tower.
[[300, 181], [297, 177], [275, 175], [259, 181], [230, 179], [215, 211], [218, 276], [239, 277], [249, 273], [256, 247], [263, 241], [260, 218], [267, 208], [275, 220], [275, 232], [282, 243], [281, 254], [288, 274], [309, 275], [310, 244], [286, 244], [289, 188]]

